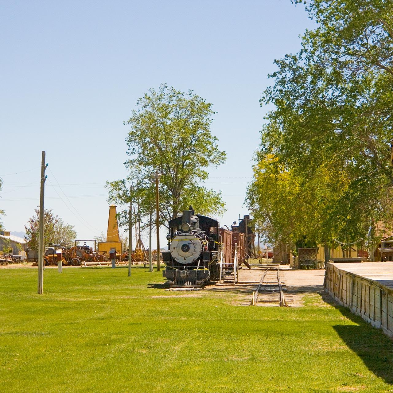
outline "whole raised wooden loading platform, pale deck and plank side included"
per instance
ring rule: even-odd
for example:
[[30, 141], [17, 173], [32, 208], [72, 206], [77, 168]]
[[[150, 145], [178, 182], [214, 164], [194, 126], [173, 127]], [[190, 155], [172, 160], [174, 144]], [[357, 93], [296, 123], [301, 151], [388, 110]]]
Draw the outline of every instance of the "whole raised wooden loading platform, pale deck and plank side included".
[[393, 262], [328, 263], [325, 292], [393, 337]]

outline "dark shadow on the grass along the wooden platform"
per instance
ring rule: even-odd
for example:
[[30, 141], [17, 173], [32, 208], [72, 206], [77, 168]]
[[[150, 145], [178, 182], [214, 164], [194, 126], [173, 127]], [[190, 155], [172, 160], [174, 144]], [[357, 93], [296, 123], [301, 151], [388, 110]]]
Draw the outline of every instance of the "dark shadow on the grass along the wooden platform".
[[336, 303], [331, 296], [325, 294], [323, 300], [340, 310], [341, 314], [357, 325], [334, 325], [343, 342], [360, 359], [365, 366], [387, 384], [393, 384], [393, 342], [380, 329], [372, 327], [360, 316]]

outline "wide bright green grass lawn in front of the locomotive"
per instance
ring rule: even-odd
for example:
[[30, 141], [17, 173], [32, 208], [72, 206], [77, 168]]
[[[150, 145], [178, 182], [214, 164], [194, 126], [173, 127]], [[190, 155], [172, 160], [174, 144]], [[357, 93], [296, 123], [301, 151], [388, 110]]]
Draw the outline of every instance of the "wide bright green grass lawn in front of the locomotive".
[[237, 307], [162, 282], [46, 269], [39, 296], [37, 270], [1, 269], [0, 391], [393, 391], [392, 342], [345, 309]]

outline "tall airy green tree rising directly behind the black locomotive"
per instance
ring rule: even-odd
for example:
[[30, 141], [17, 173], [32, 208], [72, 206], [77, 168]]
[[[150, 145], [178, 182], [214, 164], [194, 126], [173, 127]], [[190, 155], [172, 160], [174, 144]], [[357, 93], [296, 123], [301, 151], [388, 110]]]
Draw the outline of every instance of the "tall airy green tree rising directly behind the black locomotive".
[[[220, 214], [224, 202], [220, 193], [204, 187], [208, 167], [223, 163], [226, 154], [218, 148], [211, 134], [212, 104], [191, 90], [181, 92], [160, 86], [151, 89], [137, 102], [125, 122], [130, 126], [127, 138], [130, 159], [125, 163], [127, 179], [108, 182], [109, 200], [130, 201], [129, 184], [134, 181], [132, 200], [139, 200], [143, 215], [154, 204], [154, 184], [150, 176], [162, 173], [160, 179], [160, 212], [163, 224], [191, 204], [201, 214]], [[124, 222], [127, 222], [126, 211]]]

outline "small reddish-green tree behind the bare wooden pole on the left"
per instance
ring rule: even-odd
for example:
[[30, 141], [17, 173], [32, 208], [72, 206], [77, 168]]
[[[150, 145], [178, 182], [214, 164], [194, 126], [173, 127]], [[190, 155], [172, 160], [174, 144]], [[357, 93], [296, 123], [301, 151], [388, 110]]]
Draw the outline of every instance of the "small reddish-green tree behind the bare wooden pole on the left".
[[[35, 209], [35, 214], [25, 225], [25, 239], [33, 250], [39, 248], [40, 211]], [[73, 225], [66, 224], [61, 218], [53, 215], [52, 209], [44, 209], [44, 247], [50, 244], [70, 244], [76, 238]]]

